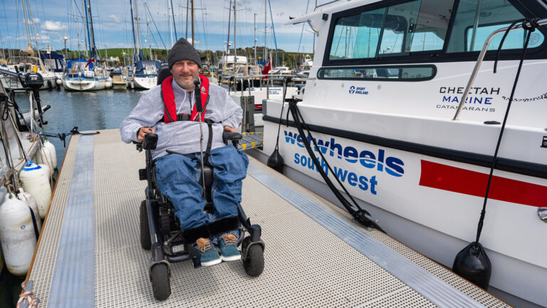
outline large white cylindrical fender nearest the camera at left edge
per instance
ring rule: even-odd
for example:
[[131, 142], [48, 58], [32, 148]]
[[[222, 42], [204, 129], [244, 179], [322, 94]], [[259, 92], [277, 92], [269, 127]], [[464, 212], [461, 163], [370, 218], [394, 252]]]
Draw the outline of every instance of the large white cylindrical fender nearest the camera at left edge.
[[0, 241], [9, 272], [26, 274], [36, 247], [36, 234], [31, 210], [14, 194], [6, 195], [0, 205]]

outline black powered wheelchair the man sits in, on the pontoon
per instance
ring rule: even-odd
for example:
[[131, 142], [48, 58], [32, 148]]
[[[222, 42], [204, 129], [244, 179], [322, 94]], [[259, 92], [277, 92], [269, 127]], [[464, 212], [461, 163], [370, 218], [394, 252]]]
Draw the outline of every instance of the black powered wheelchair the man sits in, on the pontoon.
[[[158, 84], [161, 83], [160, 76], [158, 76]], [[168, 75], [163, 76], [166, 78]], [[147, 181], [146, 199], [140, 204], [140, 245], [145, 250], [150, 250], [152, 254], [149, 276], [154, 297], [165, 300], [171, 294], [170, 264], [186, 260], [192, 260], [194, 268], [201, 267], [201, 264], [199, 257], [192, 249], [192, 243], [184, 240], [179, 220], [174, 215], [172, 202], [162, 195], [157, 186], [155, 163], [151, 153], [156, 148], [157, 138], [155, 133], [148, 133], [142, 143], [135, 144], [137, 150], [146, 152], [146, 168], [139, 170], [140, 180]], [[237, 140], [241, 139], [241, 134], [224, 132], [222, 138], [226, 146], [231, 146], [228, 145], [229, 142], [236, 146]], [[199, 165], [197, 171], [201, 173], [201, 179], [204, 180], [203, 196], [207, 200], [204, 212], [212, 213], [214, 209], [211, 194], [212, 166], [205, 164], [202, 168]], [[241, 248], [244, 270], [249, 276], [256, 277], [264, 270], [264, 242], [261, 240], [261, 227], [251, 224], [251, 220], [246, 217], [240, 204], [237, 205], [237, 210], [239, 218], [237, 245]]]

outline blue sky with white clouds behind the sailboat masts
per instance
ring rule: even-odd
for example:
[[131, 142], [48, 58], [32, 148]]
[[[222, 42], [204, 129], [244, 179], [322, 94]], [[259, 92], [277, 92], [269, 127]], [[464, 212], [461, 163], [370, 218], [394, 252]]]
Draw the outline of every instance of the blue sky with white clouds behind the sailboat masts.
[[[67, 47], [85, 48], [85, 12], [83, 0], [25, 0], [30, 2], [34, 29], [29, 23], [31, 42], [36, 48], [33, 32], [36, 32], [38, 46], [43, 49], [49, 43], [52, 48], [63, 48], [63, 37]], [[135, 1], [135, 0], [133, 0]], [[137, 0], [140, 17], [140, 41], [148, 47], [146, 16], [149, 19], [150, 41], [153, 47], [170, 48], [171, 34], [168, 23], [167, 1], [174, 6], [174, 20], [178, 37], [186, 36], [186, 14], [188, 0]], [[0, 6], [0, 47], [26, 48], [28, 39], [24, 22], [24, 9], [21, 0], [1, 0]], [[188, 1], [189, 2], [189, 1]], [[276, 33], [278, 48], [286, 51], [311, 53], [313, 34], [308, 25], [283, 26], [288, 16], [301, 16], [313, 7], [328, 0], [271, 0], [273, 27]], [[228, 17], [230, 0], [194, 0], [194, 39], [199, 49], [223, 50], [228, 38]], [[234, 0], [231, 0], [232, 6]], [[98, 48], [131, 48], [132, 26], [130, 0], [91, 0], [95, 43]], [[147, 9], [148, 8], [148, 9]], [[256, 43], [264, 46], [264, 0], [237, 0], [237, 39], [238, 47], [254, 46], [254, 14], [256, 13]], [[150, 14], [148, 13], [150, 11]], [[145, 15], [146, 13], [146, 15]], [[27, 10], [28, 19], [30, 14]], [[84, 18], [82, 19], [82, 14]], [[76, 19], [76, 21], [75, 21]], [[152, 22], [153, 20], [153, 22]], [[268, 46], [274, 46], [271, 16], [267, 7]], [[190, 24], [188, 36], [191, 37]], [[174, 29], [173, 40], [176, 40]], [[234, 43], [234, 15], [231, 15], [230, 39]]]

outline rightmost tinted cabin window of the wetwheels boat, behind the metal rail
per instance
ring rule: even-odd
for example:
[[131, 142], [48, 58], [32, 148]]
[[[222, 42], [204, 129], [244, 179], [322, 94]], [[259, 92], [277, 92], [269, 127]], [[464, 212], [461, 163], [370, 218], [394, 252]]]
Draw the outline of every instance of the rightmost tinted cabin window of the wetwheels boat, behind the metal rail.
[[[459, 6], [452, 26], [447, 52], [480, 51], [488, 36], [497, 29], [511, 25], [524, 16], [507, 0], [464, 0]], [[503, 34], [491, 41], [489, 50], [496, 50]], [[519, 49], [524, 45], [526, 36], [522, 29], [511, 31], [503, 49]], [[543, 43], [543, 34], [534, 31], [530, 36], [528, 48]]]

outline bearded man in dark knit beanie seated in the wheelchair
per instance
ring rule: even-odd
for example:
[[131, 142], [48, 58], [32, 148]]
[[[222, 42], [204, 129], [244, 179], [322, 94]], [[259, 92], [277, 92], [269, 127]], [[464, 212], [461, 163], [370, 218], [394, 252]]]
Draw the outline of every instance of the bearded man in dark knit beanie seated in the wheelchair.
[[[122, 140], [142, 142], [147, 133], [157, 134], [151, 151], [157, 188], [172, 202], [184, 240], [192, 243], [201, 265], [240, 260], [238, 205], [249, 159], [225, 145], [222, 135], [236, 132], [243, 112], [223, 88], [199, 75], [199, 54], [185, 39], [174, 44], [168, 63], [172, 76], [142, 93], [120, 125]], [[196, 96], [203, 104], [202, 125]], [[202, 144], [207, 144], [207, 150]], [[204, 163], [213, 170], [212, 214], [204, 212], [207, 201], [202, 174], [197, 171], [202, 151]]]

